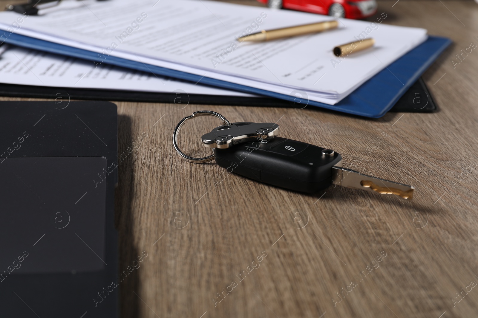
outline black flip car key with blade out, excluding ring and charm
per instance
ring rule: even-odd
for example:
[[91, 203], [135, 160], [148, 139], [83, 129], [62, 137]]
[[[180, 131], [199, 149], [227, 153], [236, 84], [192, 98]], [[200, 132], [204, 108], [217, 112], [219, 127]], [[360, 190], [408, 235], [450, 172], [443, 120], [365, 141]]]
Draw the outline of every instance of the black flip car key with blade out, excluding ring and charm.
[[214, 157], [228, 172], [294, 191], [314, 193], [335, 184], [413, 198], [413, 186], [343, 168], [337, 152], [291, 139], [275, 137], [217, 148]]

